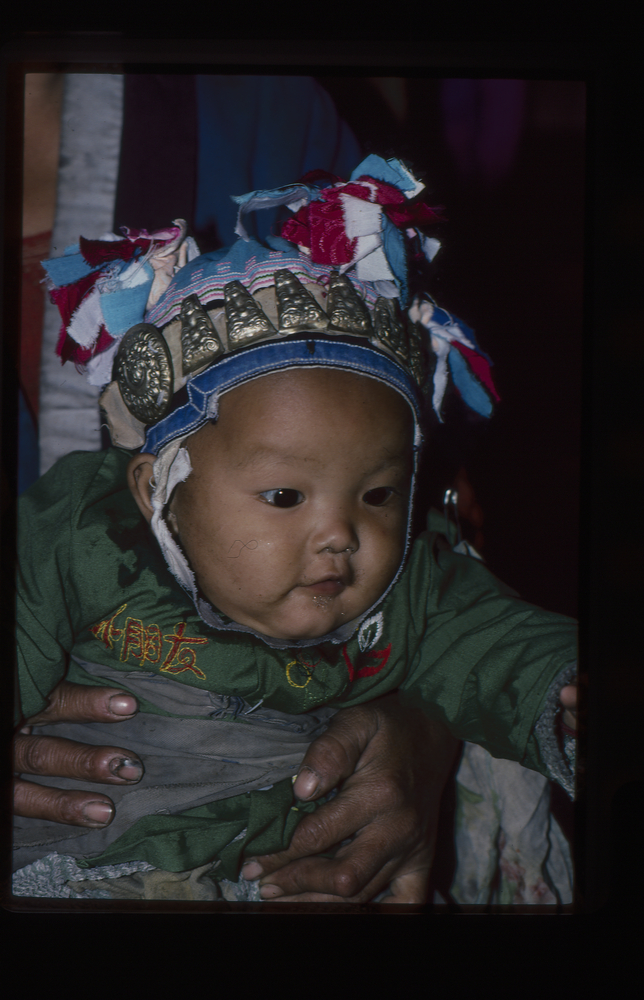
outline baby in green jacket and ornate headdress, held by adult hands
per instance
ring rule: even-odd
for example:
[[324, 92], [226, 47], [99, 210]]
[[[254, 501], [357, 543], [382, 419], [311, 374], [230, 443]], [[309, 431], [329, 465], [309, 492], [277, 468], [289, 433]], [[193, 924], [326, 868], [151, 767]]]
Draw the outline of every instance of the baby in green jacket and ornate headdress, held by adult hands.
[[[17, 820], [16, 868], [55, 852], [77, 878], [107, 874], [106, 896], [159, 871], [237, 883], [316, 808], [292, 778], [334, 711], [393, 690], [572, 788], [558, 719], [574, 624], [519, 601], [433, 523], [412, 538], [423, 392], [439, 411], [449, 363], [478, 412], [494, 395], [471, 331], [427, 297], [410, 303], [401, 227], [436, 249], [411, 201], [420, 187], [369, 157], [349, 184], [244, 196], [232, 248], [179, 258], [146, 322], [107, 331], [111, 354], [88, 368], [113, 364], [102, 403], [116, 447], [62, 459], [23, 501], [21, 707], [42, 709], [63, 676], [118, 683], [141, 705], [119, 738], [145, 775], [114, 786], [104, 829]], [[241, 216], [280, 199], [296, 214], [267, 249]], [[151, 284], [145, 255], [168, 256], [154, 235], [128, 236]], [[115, 290], [113, 271], [100, 280], [93, 315]], [[138, 288], [128, 280], [117, 291]], [[98, 724], [51, 731], [105, 742]]]

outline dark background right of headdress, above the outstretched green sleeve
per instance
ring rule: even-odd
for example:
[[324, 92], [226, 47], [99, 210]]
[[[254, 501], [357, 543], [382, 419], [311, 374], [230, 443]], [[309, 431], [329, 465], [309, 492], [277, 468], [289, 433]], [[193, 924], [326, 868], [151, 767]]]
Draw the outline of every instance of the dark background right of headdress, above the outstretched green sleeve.
[[493, 571], [576, 616], [585, 83], [317, 79], [365, 152], [404, 158], [445, 207], [431, 292], [495, 362], [502, 402], [490, 421], [454, 408], [425, 494], [440, 502], [464, 465]]

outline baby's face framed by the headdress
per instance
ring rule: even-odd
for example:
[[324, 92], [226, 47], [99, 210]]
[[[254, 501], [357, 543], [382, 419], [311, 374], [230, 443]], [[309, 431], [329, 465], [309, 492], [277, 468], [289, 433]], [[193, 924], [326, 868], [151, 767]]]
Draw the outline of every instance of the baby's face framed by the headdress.
[[366, 611], [404, 552], [408, 404], [374, 379], [290, 370], [225, 394], [186, 442], [192, 473], [168, 523], [208, 600], [281, 639]]

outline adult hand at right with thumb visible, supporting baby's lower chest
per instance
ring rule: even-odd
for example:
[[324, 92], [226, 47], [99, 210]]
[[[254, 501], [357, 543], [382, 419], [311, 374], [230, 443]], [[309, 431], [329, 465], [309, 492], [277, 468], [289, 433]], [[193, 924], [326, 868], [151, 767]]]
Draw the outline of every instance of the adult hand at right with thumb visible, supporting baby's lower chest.
[[[294, 791], [313, 801], [343, 782], [330, 802], [305, 814], [289, 848], [248, 861], [264, 899], [280, 902], [424, 903], [438, 812], [459, 743], [396, 695], [344, 709], [309, 747]], [[355, 834], [333, 859], [315, 857]], [[261, 877], [260, 877], [261, 876]]]

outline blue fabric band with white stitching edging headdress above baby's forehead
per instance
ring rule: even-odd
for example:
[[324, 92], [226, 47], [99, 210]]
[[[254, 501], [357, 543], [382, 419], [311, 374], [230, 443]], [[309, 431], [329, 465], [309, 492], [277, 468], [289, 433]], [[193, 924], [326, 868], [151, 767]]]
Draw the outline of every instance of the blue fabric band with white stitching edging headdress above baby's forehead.
[[286, 368], [327, 367], [344, 368], [376, 378], [404, 396], [414, 411], [419, 443], [422, 401], [416, 383], [400, 365], [366, 345], [304, 335], [243, 348], [214, 362], [187, 383], [188, 402], [148, 430], [141, 450], [157, 455], [175, 438], [193, 434], [215, 418], [218, 397], [244, 382]]

